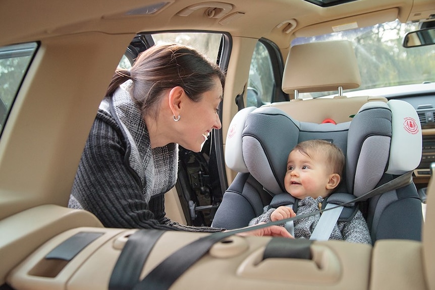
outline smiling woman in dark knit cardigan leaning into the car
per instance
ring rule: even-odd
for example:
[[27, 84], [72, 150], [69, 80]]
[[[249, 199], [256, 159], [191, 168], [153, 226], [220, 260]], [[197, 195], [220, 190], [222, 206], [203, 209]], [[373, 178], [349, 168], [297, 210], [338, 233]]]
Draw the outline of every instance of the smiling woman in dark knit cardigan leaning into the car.
[[[142, 52], [114, 75], [80, 160], [69, 207], [94, 213], [106, 227], [221, 231], [165, 217], [164, 194], [177, 180], [178, 144], [198, 152], [221, 129], [224, 72], [180, 44]], [[281, 227], [252, 235], [288, 236]]]

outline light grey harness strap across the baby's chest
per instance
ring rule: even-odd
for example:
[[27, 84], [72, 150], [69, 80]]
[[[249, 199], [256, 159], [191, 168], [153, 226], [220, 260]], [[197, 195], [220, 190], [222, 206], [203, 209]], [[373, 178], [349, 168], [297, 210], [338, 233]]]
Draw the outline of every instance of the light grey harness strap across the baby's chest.
[[328, 241], [342, 211], [343, 206], [337, 207], [335, 204], [328, 203], [320, 214], [320, 219], [311, 234], [310, 240]]

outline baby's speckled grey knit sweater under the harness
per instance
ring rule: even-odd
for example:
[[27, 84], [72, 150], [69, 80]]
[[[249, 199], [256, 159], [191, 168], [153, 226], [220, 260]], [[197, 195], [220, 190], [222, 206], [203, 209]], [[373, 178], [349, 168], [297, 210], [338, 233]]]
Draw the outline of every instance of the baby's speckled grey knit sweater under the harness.
[[[298, 210], [296, 216], [312, 213], [318, 210], [318, 203], [323, 202], [322, 197], [313, 199], [312, 197], [306, 197], [298, 202]], [[249, 225], [257, 224], [259, 222], [270, 222], [270, 214], [275, 210], [275, 208], [270, 208], [266, 205], [263, 208], [263, 214], [252, 219]], [[309, 239], [311, 237], [312, 231], [314, 230], [317, 222], [320, 219], [320, 213], [311, 215], [308, 217], [303, 217], [293, 221], [295, 228], [295, 238]], [[371, 244], [371, 238], [367, 223], [361, 213], [357, 211], [355, 216], [348, 222], [339, 221], [334, 226], [331, 233], [330, 240], [345, 240], [347, 242]]]

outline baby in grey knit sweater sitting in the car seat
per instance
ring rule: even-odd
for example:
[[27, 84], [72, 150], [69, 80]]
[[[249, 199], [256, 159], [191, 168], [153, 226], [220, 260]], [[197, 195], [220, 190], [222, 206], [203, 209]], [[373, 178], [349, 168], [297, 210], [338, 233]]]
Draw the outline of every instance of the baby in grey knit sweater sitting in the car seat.
[[[282, 220], [312, 213], [340, 184], [345, 164], [343, 151], [325, 140], [308, 140], [297, 144], [287, 160], [284, 178], [286, 191], [298, 202], [297, 213], [291, 207], [264, 207], [263, 214], [249, 225]], [[320, 219], [320, 212], [294, 220], [295, 238], [309, 239]], [[329, 238], [348, 242], [371, 244], [367, 223], [360, 210], [349, 221], [338, 221]]]

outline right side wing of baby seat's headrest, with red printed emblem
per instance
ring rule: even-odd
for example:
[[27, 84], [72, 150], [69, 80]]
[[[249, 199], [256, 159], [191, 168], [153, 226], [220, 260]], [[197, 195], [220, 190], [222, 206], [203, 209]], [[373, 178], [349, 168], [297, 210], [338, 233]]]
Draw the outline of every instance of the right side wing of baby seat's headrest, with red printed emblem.
[[355, 196], [376, 187], [384, 173], [401, 175], [421, 159], [417, 112], [401, 100], [364, 104], [353, 118], [346, 154], [347, 187]]

